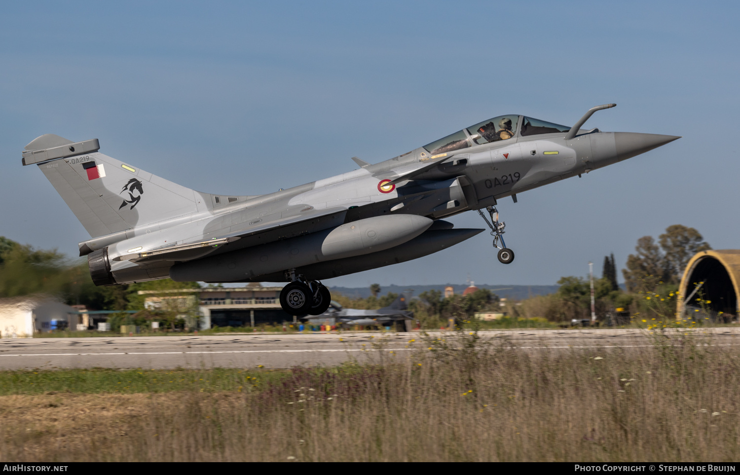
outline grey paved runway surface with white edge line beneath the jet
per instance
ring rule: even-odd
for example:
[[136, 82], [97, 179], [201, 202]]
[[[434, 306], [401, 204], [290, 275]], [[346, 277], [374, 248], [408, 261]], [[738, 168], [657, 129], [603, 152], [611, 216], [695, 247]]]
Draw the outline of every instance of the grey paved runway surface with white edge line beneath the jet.
[[[740, 328], [695, 329], [693, 344], [740, 346]], [[520, 351], [653, 346], [654, 334], [639, 329], [480, 331], [480, 344]], [[667, 342], [678, 342], [668, 330]], [[459, 337], [459, 336], [458, 336]], [[454, 344], [453, 332], [343, 334], [227, 334], [215, 336], [4, 338], [0, 369], [29, 368], [291, 368], [337, 365], [424, 351], [429, 339]], [[413, 341], [411, 341], [413, 340]]]

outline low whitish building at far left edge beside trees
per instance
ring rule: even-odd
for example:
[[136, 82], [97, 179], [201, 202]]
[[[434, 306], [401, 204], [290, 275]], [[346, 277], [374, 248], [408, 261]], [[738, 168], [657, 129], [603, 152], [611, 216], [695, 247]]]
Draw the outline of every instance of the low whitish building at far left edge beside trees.
[[84, 325], [82, 318], [78, 310], [53, 297], [0, 299], [0, 337], [3, 338], [30, 338], [34, 333], [76, 330], [78, 325]]

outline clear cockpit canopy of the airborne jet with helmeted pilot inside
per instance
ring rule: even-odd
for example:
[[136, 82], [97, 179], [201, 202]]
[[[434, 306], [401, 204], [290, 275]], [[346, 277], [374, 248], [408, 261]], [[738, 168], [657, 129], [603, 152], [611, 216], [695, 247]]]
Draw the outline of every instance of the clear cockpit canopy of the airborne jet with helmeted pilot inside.
[[[490, 144], [492, 142], [506, 140], [517, 135], [519, 126], [519, 115], [499, 115], [488, 121], [482, 121], [480, 124], [468, 127], [440, 138], [431, 144], [426, 144], [424, 148], [434, 157], [454, 150], [466, 149], [469, 146]], [[535, 118], [522, 117], [522, 127], [519, 135], [526, 137], [528, 135], [551, 134], [558, 132], [568, 132], [570, 127], [550, 122], [540, 121]]]

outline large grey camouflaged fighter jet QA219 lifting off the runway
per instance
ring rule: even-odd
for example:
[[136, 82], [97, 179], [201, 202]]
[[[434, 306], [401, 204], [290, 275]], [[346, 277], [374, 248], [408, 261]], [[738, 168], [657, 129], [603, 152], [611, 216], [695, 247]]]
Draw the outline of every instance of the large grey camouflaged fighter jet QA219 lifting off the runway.
[[[98, 286], [179, 281], [287, 282], [280, 304], [320, 315], [321, 280], [417, 259], [484, 229], [453, 229], [452, 215], [485, 220], [498, 259], [497, 201], [647, 152], [673, 135], [601, 132], [525, 115], [500, 115], [403, 155], [267, 195], [197, 192], [99, 152], [98, 139], [41, 135], [23, 152], [92, 236], [78, 244]], [[486, 213], [484, 213], [484, 210]], [[488, 214], [488, 218], [486, 217]]]

